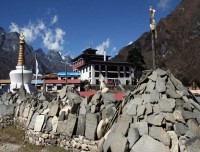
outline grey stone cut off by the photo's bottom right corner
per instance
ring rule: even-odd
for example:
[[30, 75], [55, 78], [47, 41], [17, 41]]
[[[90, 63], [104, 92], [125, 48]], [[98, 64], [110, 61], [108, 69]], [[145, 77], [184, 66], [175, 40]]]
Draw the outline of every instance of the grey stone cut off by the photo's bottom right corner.
[[199, 152], [200, 150], [200, 137], [194, 137], [186, 142], [187, 152]]

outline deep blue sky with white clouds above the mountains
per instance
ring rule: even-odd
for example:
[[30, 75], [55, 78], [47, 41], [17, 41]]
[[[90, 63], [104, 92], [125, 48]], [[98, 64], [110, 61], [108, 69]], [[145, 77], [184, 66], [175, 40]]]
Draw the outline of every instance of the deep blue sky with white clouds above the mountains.
[[76, 57], [88, 47], [114, 56], [181, 0], [1, 0], [0, 27], [23, 32], [34, 49], [54, 49]]

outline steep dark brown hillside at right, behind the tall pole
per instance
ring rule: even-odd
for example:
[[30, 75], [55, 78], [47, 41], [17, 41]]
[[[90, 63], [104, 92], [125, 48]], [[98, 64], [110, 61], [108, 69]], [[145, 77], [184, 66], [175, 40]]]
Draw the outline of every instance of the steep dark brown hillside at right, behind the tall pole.
[[[166, 18], [157, 24], [157, 62], [170, 69], [178, 79], [189, 82], [200, 79], [200, 1], [182, 0]], [[122, 48], [114, 60], [129, 60], [128, 53], [139, 50], [147, 69], [152, 68], [151, 33], [144, 33], [131, 45]]]

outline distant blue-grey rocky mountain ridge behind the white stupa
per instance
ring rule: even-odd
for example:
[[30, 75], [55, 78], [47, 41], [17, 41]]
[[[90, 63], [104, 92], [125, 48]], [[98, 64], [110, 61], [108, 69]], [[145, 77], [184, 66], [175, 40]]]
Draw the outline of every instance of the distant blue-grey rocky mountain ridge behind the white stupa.
[[[65, 71], [65, 61], [59, 52], [50, 50], [45, 53], [41, 48], [34, 50], [32, 46], [25, 44], [25, 66], [35, 73], [35, 55], [39, 63], [39, 73], [55, 73]], [[0, 79], [8, 79], [11, 70], [16, 69], [19, 53], [19, 33], [6, 33], [0, 27]], [[67, 57], [67, 62], [71, 63], [71, 57]], [[67, 65], [68, 70], [72, 70]]]

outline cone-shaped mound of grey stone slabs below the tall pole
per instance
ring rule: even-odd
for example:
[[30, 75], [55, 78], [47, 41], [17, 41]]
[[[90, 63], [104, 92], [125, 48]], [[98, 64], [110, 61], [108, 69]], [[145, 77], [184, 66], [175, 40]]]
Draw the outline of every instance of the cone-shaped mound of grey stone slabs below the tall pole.
[[150, 72], [127, 94], [99, 151], [199, 151], [200, 105], [169, 71]]

